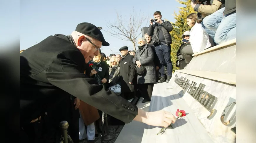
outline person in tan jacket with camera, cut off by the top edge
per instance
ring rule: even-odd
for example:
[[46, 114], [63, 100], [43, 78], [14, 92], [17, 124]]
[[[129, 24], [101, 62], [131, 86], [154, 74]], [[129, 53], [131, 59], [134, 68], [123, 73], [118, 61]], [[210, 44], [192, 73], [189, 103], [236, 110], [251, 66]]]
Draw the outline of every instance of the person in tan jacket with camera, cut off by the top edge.
[[191, 0], [191, 6], [198, 13], [202, 13], [202, 17], [211, 15], [215, 11], [223, 7], [225, 0]]

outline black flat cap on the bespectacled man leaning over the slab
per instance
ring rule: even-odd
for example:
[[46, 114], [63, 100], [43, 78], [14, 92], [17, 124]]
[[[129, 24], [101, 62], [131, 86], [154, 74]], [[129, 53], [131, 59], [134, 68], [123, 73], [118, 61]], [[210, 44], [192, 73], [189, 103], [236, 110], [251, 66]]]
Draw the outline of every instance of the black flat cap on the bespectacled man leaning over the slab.
[[99, 30], [99, 28], [91, 23], [84, 22], [78, 24], [76, 31], [99, 40], [100, 42], [102, 42], [102, 46], [109, 46], [109, 43], [105, 41], [103, 34]]

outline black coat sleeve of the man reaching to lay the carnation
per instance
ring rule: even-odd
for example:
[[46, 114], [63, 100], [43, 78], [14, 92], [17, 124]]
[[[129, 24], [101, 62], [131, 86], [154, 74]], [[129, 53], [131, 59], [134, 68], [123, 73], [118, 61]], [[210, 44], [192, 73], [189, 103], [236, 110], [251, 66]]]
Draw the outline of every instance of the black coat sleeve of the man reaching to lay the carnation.
[[49, 83], [114, 118], [125, 123], [131, 122], [137, 115], [138, 108], [110, 90], [105, 90], [96, 80], [88, 78], [84, 74], [84, 67], [77, 64], [80, 61], [74, 55], [78, 54], [81, 53], [74, 50], [59, 54], [46, 70]]

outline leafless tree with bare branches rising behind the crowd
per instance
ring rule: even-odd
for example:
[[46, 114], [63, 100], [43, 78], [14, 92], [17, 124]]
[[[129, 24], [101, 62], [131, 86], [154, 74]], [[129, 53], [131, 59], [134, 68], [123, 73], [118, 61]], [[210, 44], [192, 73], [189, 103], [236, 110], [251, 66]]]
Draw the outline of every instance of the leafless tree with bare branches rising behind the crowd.
[[[124, 19], [122, 17], [122, 14], [119, 14], [117, 11], [117, 19], [113, 22], [108, 22], [107, 27], [108, 30], [104, 30], [108, 33], [110, 33], [111, 36], [116, 37], [118, 39], [124, 40], [124, 41], [131, 41], [133, 44], [134, 50], [135, 43], [137, 42], [137, 38], [141, 34], [141, 26], [142, 23], [148, 19], [147, 16], [144, 14], [138, 16], [136, 14], [135, 9], [133, 8], [130, 10], [130, 17]], [[139, 13], [140, 14], [140, 13]], [[129, 21], [128, 21], [129, 20]]]

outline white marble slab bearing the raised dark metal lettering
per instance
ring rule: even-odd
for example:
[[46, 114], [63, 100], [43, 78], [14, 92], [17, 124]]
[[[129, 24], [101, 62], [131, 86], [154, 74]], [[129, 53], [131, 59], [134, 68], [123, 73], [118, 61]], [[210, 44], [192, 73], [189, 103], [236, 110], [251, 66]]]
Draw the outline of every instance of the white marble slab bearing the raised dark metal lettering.
[[[232, 131], [232, 128], [235, 127], [236, 85], [180, 72], [174, 73], [169, 85], [172, 86], [176, 91], [184, 91], [182, 88], [184, 87], [185, 83], [183, 82], [182, 84], [184, 78], [186, 78], [186, 81], [189, 80], [189, 84], [192, 82], [197, 83], [194, 88], [198, 88], [200, 84], [205, 85], [203, 90], [216, 97], [215, 104], [212, 104], [211, 106], [211, 108], [215, 109], [216, 111], [211, 118], [207, 118], [211, 112], [200, 104], [200, 102], [194, 97], [192, 97], [191, 94], [189, 94], [189, 89], [185, 90], [184, 96], [182, 97], [194, 115], [198, 118], [200, 123], [204, 126], [205, 130], [207, 130], [209, 135], [214, 139], [214, 142], [234, 143], [236, 134]], [[229, 111], [230, 113], [228, 113]], [[222, 117], [225, 114], [227, 114], [227, 116], [225, 116], [223, 119]], [[222, 123], [221, 118], [224, 120], [224, 123]]]

